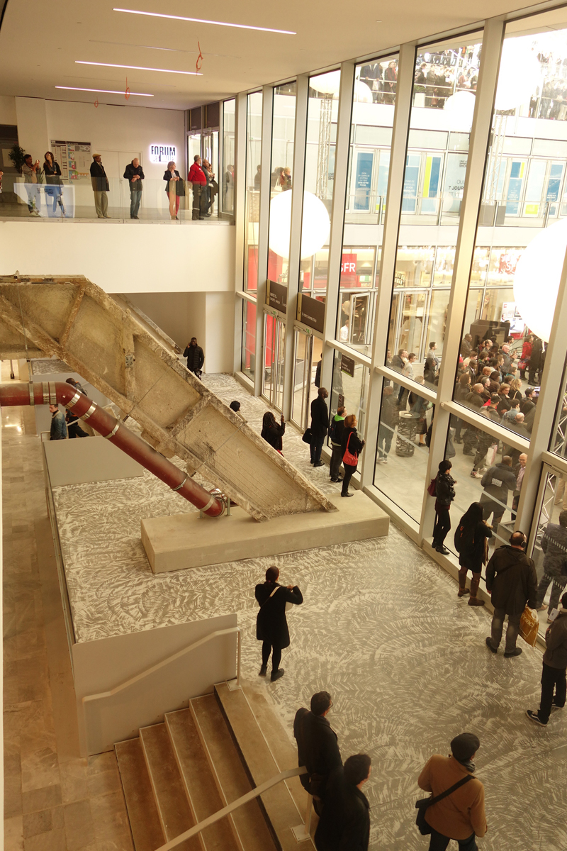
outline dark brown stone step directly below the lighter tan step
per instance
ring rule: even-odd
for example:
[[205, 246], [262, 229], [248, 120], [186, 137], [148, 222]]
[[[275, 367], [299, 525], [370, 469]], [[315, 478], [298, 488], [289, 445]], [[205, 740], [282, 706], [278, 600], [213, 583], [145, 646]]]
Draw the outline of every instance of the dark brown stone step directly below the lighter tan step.
[[[214, 694], [194, 698], [190, 711], [223, 806], [252, 789]], [[275, 851], [258, 798], [235, 809], [232, 820], [241, 851]]]

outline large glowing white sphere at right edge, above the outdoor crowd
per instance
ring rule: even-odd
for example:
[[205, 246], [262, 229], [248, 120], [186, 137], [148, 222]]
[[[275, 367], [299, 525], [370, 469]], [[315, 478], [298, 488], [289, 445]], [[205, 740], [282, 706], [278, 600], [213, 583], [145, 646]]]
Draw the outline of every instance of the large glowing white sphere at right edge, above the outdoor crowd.
[[516, 266], [513, 297], [524, 323], [549, 342], [559, 282], [567, 250], [567, 221], [545, 228], [532, 239]]

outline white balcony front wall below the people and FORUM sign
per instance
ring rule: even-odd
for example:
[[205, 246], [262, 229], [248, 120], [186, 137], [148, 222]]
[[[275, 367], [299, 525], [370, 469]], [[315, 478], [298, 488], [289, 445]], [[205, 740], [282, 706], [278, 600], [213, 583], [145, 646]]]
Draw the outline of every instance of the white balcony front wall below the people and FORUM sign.
[[0, 221], [0, 274], [85, 275], [107, 293], [235, 288], [235, 227]]

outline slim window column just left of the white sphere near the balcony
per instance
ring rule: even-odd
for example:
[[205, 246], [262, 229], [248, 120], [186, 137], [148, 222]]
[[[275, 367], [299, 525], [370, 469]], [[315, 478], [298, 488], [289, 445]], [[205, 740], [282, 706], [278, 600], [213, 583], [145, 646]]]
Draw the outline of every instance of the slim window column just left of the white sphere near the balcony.
[[262, 89], [262, 144], [260, 147], [260, 205], [258, 210], [258, 287], [256, 290], [256, 371], [254, 396], [262, 392], [264, 374], [264, 311], [266, 300], [266, 273], [268, 271], [269, 189], [272, 163], [272, 112], [274, 89]]

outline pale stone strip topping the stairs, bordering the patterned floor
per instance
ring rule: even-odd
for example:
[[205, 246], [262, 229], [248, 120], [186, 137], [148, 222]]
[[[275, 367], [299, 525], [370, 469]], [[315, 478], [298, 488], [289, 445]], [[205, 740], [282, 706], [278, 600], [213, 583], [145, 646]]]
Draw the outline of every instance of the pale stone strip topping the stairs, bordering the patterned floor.
[[[298, 746], [295, 739], [290, 737], [287, 730], [283, 727], [280, 718], [275, 714], [273, 706], [266, 699], [266, 696], [258, 688], [254, 688], [250, 684], [243, 683], [242, 691], [246, 694], [247, 701], [252, 709], [253, 715], [256, 718], [258, 727], [262, 730], [264, 739], [268, 743], [269, 750], [278, 767], [278, 771], [286, 771], [288, 768], [298, 767]], [[263, 689], [265, 691], [265, 689]], [[287, 788], [292, 793], [292, 798], [302, 814], [305, 817], [305, 812], [308, 804], [308, 794], [303, 789], [301, 781], [298, 777], [292, 777], [285, 781]], [[315, 814], [315, 810], [311, 812], [311, 835], [315, 834], [315, 827], [319, 819]]]

